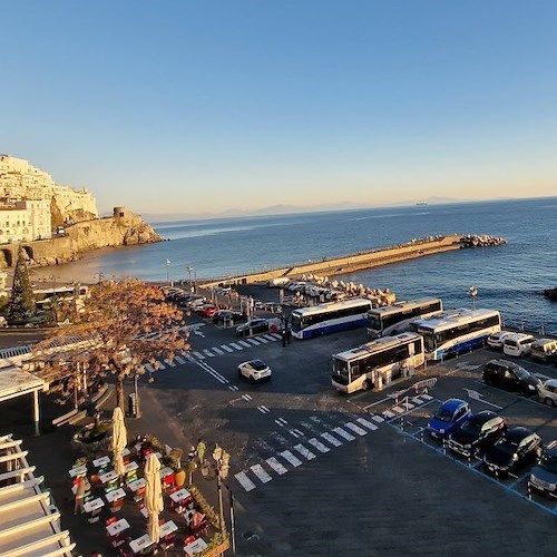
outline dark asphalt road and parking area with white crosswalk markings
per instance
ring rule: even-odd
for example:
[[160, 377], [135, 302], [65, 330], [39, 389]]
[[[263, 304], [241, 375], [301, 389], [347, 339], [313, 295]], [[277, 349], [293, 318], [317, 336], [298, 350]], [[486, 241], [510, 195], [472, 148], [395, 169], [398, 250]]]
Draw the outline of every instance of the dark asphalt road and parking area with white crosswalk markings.
[[[190, 335], [189, 356], [146, 387], [184, 438], [232, 455], [237, 554], [555, 555], [557, 508], [528, 499], [527, 470], [496, 480], [478, 462], [446, 455], [423, 428], [444, 399], [459, 397], [473, 411], [500, 408], [548, 443], [557, 409], [485, 385], [481, 364], [497, 355], [489, 350], [381, 393], [341, 395], [331, 389], [330, 356], [364, 340], [359, 330], [283, 348], [278, 335], [241, 341], [205, 323]], [[253, 358], [273, 369], [271, 381], [237, 377], [237, 364]], [[438, 380], [424, 397], [399, 404], [389, 397], [426, 377]]]

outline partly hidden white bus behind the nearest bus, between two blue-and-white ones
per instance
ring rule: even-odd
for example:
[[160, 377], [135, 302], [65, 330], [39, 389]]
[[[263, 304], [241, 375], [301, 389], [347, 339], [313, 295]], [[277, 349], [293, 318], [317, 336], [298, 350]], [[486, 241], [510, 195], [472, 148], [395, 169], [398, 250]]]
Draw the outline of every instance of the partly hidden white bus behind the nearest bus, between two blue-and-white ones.
[[368, 334], [377, 339], [403, 333], [410, 329], [412, 321], [437, 315], [442, 311], [443, 303], [439, 297], [421, 297], [373, 307], [368, 312]]

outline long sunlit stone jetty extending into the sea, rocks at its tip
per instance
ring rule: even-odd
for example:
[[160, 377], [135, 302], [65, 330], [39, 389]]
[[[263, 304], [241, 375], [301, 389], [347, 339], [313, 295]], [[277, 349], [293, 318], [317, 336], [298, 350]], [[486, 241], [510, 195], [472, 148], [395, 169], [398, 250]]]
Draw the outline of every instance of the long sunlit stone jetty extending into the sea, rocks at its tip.
[[204, 287], [237, 286], [242, 284], [268, 282], [281, 276], [287, 276], [289, 278], [296, 280], [301, 278], [302, 275], [309, 274], [319, 274], [329, 277], [389, 265], [392, 263], [400, 263], [402, 261], [416, 260], [418, 257], [424, 257], [437, 253], [460, 250], [462, 247], [470, 246], [470, 243], [478, 247], [502, 245], [505, 243], [502, 238], [497, 238], [498, 242], [487, 241], [490, 236], [486, 235], [481, 236], [482, 242], [476, 243], [470, 241], [470, 238], [477, 237], [480, 236], [452, 234], [448, 236], [438, 235], [428, 236], [426, 238], [413, 238], [405, 244], [398, 244], [390, 247], [358, 252], [351, 255], [343, 255], [333, 258], [322, 257], [319, 261], [307, 260], [307, 262], [292, 266], [202, 281], [201, 285]]

